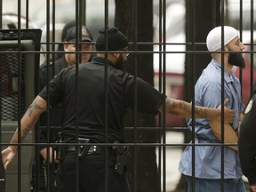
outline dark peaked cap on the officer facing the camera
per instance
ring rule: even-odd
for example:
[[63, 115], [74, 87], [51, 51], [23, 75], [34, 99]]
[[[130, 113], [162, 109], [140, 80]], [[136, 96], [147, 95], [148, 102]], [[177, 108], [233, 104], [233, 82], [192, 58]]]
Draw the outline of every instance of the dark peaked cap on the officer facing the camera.
[[[68, 29], [66, 41], [76, 42], [76, 26]], [[92, 32], [85, 26], [81, 28], [81, 41], [92, 42]]]

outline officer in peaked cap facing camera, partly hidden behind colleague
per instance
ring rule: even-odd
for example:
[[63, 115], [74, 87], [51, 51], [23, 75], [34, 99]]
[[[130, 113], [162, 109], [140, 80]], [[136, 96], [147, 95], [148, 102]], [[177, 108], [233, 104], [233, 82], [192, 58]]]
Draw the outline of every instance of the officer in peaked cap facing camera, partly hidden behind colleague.
[[[62, 31], [62, 37], [65, 41], [63, 45], [63, 49], [66, 52], [65, 54], [62, 54], [60, 59], [52, 61], [49, 65], [49, 74], [47, 78], [48, 73], [48, 66], [45, 62], [40, 66], [39, 70], [39, 90], [41, 91], [48, 82], [58, 74], [63, 68], [68, 68], [76, 63], [76, 53], [68, 53], [68, 52], [76, 52], [76, 21], [72, 20], [68, 22]], [[80, 39], [79, 39], [80, 40]], [[81, 45], [82, 51], [92, 51], [92, 32], [86, 28], [85, 26], [82, 26], [81, 28], [81, 41], [84, 42], [84, 44]], [[91, 58], [91, 53], [83, 53], [81, 54], [82, 62], [87, 62]], [[38, 134], [36, 134], [36, 142], [39, 143], [47, 143], [49, 142], [55, 142], [56, 134], [57, 132], [60, 132], [60, 126], [61, 126], [61, 114], [62, 114], [62, 105], [59, 104], [55, 106], [54, 108], [51, 108], [49, 110], [49, 121], [47, 121], [47, 113], [42, 114], [39, 119], [39, 127]], [[47, 139], [47, 127], [50, 125], [50, 138]], [[30, 188], [31, 191], [37, 191], [36, 188], [38, 188], [38, 192], [44, 192], [44, 191], [53, 191], [53, 188], [55, 188], [56, 183], [55, 178], [55, 171], [57, 170], [57, 163], [58, 160], [56, 158], [56, 148], [49, 148], [49, 153], [47, 156], [47, 148], [45, 146], [39, 146], [39, 157], [37, 158], [37, 154], [35, 156], [34, 165], [32, 167], [32, 180], [30, 182]], [[54, 156], [53, 156], [54, 155]], [[49, 159], [47, 159], [49, 157]], [[50, 161], [49, 169], [47, 166], [47, 162]], [[36, 164], [38, 163], [38, 164]], [[55, 164], [53, 164], [55, 163]], [[36, 166], [37, 166], [37, 172], [36, 172]], [[50, 170], [50, 172], [48, 172]], [[48, 184], [50, 182], [50, 184]], [[48, 188], [50, 187], [50, 188]], [[48, 189], [47, 189], [48, 188]]]

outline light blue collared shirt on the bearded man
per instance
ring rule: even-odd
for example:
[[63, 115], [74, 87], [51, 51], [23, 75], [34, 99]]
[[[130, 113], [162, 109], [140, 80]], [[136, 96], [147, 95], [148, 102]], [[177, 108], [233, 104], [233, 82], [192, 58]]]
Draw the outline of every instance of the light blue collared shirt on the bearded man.
[[[241, 101], [241, 85], [233, 72], [228, 75], [224, 71], [224, 99], [228, 98], [226, 107], [232, 108], [235, 118], [232, 125], [236, 130], [239, 124], [239, 114], [244, 108]], [[195, 104], [209, 108], [217, 108], [221, 103], [221, 65], [216, 60], [210, 62], [204, 69], [195, 86]], [[192, 129], [192, 119], [187, 119], [188, 127]], [[212, 133], [208, 119], [200, 118], [195, 121], [195, 143], [214, 143], [218, 139]], [[196, 146], [195, 149], [196, 178], [220, 179], [221, 147]], [[192, 176], [192, 147], [185, 148], [180, 159], [180, 172]], [[224, 148], [224, 178], [238, 179], [243, 175], [237, 152]]]

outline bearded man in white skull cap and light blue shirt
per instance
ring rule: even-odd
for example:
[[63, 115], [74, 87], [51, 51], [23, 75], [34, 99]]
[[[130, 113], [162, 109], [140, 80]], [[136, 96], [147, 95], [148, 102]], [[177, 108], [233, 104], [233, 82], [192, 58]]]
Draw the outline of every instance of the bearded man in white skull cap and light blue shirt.
[[[224, 35], [224, 53], [221, 54], [216, 51], [221, 51], [222, 34]], [[228, 98], [227, 107], [235, 112], [234, 122], [224, 126], [224, 143], [234, 144], [237, 143], [238, 126], [244, 105], [241, 101], [241, 85], [232, 72], [232, 68], [233, 66], [244, 68], [242, 56], [244, 44], [240, 42], [237, 30], [228, 26], [213, 28], [207, 36], [206, 44], [211, 52], [212, 61], [207, 68], [204, 68], [196, 82], [195, 104], [208, 108], [216, 108], [220, 105], [221, 66], [224, 66], [224, 98]], [[221, 65], [222, 61], [224, 62]], [[187, 123], [188, 127], [192, 129], [192, 119], [188, 119]], [[244, 191], [243, 173], [237, 156], [237, 146], [225, 146], [224, 159], [221, 159], [220, 142], [220, 122], [210, 123], [209, 119], [196, 119], [195, 143], [199, 145], [195, 148], [195, 186], [192, 187], [192, 146], [185, 149], [179, 167], [180, 172], [186, 175], [188, 191], [195, 188], [196, 192], [220, 192], [221, 172], [224, 172], [225, 192]], [[214, 143], [217, 144], [214, 145]], [[205, 146], [205, 144], [210, 144], [210, 146]], [[221, 164], [224, 164], [224, 170], [221, 170]]]

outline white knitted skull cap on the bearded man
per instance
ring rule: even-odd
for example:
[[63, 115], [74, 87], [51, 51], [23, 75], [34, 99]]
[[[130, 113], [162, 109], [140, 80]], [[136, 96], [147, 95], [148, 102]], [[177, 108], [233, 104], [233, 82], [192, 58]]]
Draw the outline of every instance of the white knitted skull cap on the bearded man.
[[[206, 45], [210, 52], [217, 51], [221, 48], [221, 26], [213, 28], [208, 36], [206, 37]], [[236, 36], [238, 36], [238, 31], [236, 28], [229, 26], [223, 26], [224, 32], [224, 45], [232, 41]]]

